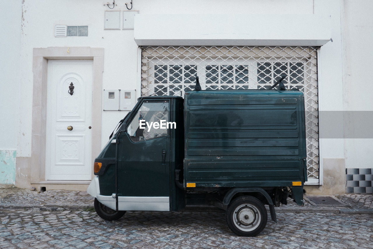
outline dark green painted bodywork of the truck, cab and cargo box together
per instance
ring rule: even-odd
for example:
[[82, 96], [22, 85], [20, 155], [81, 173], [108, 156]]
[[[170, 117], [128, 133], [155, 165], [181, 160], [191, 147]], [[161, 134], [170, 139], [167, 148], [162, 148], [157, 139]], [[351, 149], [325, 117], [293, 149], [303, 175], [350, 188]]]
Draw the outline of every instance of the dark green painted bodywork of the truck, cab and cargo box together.
[[[129, 124], [142, 102], [160, 99], [169, 100], [169, 119], [176, 122], [176, 129], [140, 142], [119, 129], [112, 138], [119, 142], [119, 195], [170, 196], [170, 209], [181, 209], [186, 193], [175, 185], [175, 169], [182, 170], [185, 187], [195, 182], [198, 190], [273, 189], [305, 181], [303, 93], [192, 91], [185, 93], [185, 102], [174, 96], [144, 97], [124, 123]], [[163, 164], [162, 150], [166, 150]], [[116, 144], [109, 142], [97, 159], [109, 160], [115, 153]], [[99, 175], [99, 183], [102, 195], [116, 192], [115, 164]], [[293, 198], [301, 205], [303, 186], [293, 189]]]

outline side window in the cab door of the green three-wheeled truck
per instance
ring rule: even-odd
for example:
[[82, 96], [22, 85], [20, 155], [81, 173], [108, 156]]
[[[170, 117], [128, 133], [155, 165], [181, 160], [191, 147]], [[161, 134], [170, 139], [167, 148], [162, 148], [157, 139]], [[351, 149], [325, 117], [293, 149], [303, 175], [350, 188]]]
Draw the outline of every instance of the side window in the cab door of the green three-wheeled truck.
[[168, 135], [169, 100], [145, 100], [128, 125], [127, 132], [133, 142]]

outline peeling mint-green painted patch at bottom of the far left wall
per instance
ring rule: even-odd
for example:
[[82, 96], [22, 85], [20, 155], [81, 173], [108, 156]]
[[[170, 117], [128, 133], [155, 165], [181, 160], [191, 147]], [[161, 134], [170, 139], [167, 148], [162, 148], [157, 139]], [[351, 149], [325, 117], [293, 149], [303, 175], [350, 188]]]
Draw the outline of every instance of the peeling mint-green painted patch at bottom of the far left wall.
[[16, 183], [16, 151], [0, 150], [0, 184]]

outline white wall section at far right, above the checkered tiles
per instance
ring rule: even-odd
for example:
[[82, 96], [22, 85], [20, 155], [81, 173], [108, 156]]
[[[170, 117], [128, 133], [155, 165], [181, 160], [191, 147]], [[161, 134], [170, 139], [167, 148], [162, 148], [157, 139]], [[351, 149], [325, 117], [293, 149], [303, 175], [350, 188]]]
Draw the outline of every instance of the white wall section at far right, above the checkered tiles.
[[373, 3], [344, 0], [342, 8], [346, 168], [373, 168]]

